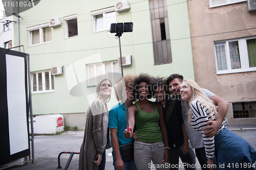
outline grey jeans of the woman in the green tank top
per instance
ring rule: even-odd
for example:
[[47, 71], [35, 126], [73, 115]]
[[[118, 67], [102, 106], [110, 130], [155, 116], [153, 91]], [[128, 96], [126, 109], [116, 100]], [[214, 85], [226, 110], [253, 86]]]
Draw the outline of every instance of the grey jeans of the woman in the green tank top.
[[[143, 143], [134, 142], [134, 160], [139, 170], [148, 170], [150, 167], [157, 169], [169, 169], [163, 164], [164, 144], [163, 142]], [[151, 164], [151, 160], [155, 164]]]

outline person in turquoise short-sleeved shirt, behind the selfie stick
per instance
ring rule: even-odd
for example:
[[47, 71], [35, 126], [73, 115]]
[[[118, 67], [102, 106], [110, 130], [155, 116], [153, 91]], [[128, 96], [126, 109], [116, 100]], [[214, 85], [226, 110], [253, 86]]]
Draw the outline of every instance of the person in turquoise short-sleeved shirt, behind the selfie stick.
[[134, 139], [124, 138], [123, 131], [126, 129], [126, 114], [124, 102], [126, 100], [127, 109], [135, 102], [133, 98], [133, 86], [135, 76], [126, 75], [124, 76], [125, 84], [125, 96], [123, 96], [122, 81], [115, 86], [116, 99], [121, 101], [110, 110], [110, 122], [109, 128], [111, 131], [111, 141], [113, 146], [113, 165], [115, 170], [137, 170], [135, 161], [123, 162], [123, 157], [119, 145], [133, 142]]

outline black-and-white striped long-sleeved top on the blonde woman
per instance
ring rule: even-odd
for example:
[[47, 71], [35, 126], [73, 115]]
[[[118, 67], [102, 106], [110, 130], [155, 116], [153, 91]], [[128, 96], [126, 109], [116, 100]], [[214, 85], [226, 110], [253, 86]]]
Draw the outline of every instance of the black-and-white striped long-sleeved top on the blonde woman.
[[[203, 128], [209, 126], [209, 125], [205, 125], [205, 123], [212, 120], [209, 110], [198, 101], [193, 101], [191, 103], [190, 109], [191, 109], [191, 115], [192, 115], [191, 125], [194, 129], [202, 133], [206, 157], [207, 159], [213, 160], [214, 154], [215, 154], [214, 136], [207, 137], [203, 134], [206, 131], [202, 131]], [[216, 118], [216, 114], [214, 113], [213, 110], [212, 110], [212, 114]], [[227, 122], [225, 119], [224, 123], [221, 125], [220, 129], [215, 134], [215, 136], [218, 135], [223, 129], [226, 128], [226, 123]]]

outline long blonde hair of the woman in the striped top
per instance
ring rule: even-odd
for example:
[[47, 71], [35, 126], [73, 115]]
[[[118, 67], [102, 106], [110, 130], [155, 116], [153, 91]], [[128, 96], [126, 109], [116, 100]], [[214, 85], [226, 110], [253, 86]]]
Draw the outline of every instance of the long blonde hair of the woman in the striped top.
[[[190, 86], [191, 90], [192, 90], [192, 96], [191, 96], [191, 99], [189, 101], [189, 107], [191, 106], [191, 103], [193, 101], [198, 101], [208, 109], [208, 111], [210, 113], [210, 116], [213, 120], [215, 118], [214, 118], [212, 110], [214, 111], [214, 113], [216, 115], [216, 118], [217, 118], [218, 117], [218, 112], [217, 112], [217, 107], [215, 106], [215, 103], [212, 100], [210, 100], [204, 94], [204, 92], [201, 90], [199, 85], [194, 80], [189, 80], [189, 79], [185, 79], [183, 82], [187, 82], [188, 85]], [[187, 104], [186, 101], [185, 101], [185, 104]], [[191, 108], [189, 108], [189, 115], [188, 115], [188, 122], [189, 123], [190, 123], [191, 118], [192, 118]]]

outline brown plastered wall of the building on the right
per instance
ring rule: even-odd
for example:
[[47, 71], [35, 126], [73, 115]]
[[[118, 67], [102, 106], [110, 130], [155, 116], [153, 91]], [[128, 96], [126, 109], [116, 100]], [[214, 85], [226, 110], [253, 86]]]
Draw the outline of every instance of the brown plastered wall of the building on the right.
[[256, 124], [255, 118], [233, 118], [232, 110], [233, 102], [256, 101], [256, 71], [217, 75], [214, 44], [255, 36], [256, 12], [247, 11], [247, 2], [210, 8], [208, 0], [195, 0], [188, 14], [196, 82], [230, 102], [229, 125]]

